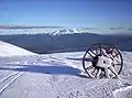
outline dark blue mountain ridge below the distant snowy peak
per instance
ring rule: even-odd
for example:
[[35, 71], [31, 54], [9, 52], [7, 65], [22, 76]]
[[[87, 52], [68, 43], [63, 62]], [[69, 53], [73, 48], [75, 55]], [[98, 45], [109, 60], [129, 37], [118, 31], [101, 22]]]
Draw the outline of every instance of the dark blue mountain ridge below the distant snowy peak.
[[[66, 30], [72, 31], [72, 30]], [[86, 51], [95, 43], [110, 43], [119, 45], [120, 50], [132, 51], [132, 35], [100, 35], [94, 33], [66, 33], [57, 34], [15, 34], [0, 35], [0, 40], [23, 47], [34, 53], [54, 53]], [[65, 33], [65, 34], [64, 34]]]

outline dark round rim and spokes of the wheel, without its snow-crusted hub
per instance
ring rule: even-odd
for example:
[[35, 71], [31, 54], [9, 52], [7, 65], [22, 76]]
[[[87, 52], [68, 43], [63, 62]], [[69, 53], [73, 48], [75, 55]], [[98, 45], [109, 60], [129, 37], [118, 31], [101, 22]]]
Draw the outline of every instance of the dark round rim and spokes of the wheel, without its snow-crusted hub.
[[[98, 77], [98, 73], [100, 67], [96, 66], [98, 63], [98, 56], [101, 54], [101, 50], [105, 50], [107, 54], [109, 54], [114, 59], [114, 64], [112, 65], [114, 70], [120, 74], [123, 66], [123, 58], [121, 52], [113, 45], [106, 43], [98, 43], [90, 46], [82, 58], [82, 67], [89, 77], [96, 78]], [[105, 70], [101, 68], [101, 74], [99, 77], [105, 76]], [[114, 75], [109, 70], [109, 76], [114, 77]]]

